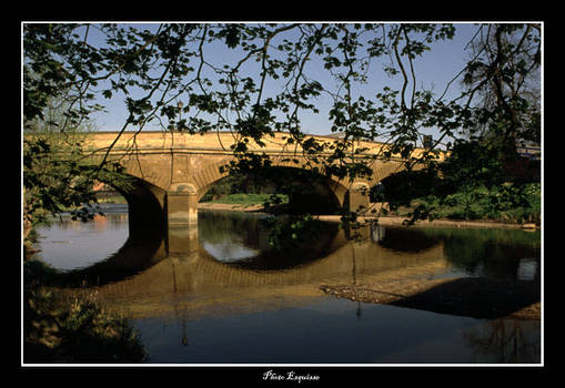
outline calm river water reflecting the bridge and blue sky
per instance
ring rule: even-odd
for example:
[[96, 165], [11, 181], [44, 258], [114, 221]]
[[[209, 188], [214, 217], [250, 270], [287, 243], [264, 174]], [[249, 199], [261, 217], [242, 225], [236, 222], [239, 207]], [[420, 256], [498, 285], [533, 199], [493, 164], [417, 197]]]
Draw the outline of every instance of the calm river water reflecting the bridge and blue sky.
[[363, 303], [320, 289], [380, 284], [398, 292], [406, 279], [451, 277], [538, 285], [539, 232], [352, 232], [335, 223], [290, 226], [284, 218], [268, 228], [272, 218], [264, 215], [200, 212], [198, 227], [132, 238], [127, 206], [104, 211], [90, 223], [63, 216], [38, 229], [36, 257], [88, 279], [139, 331], [148, 363], [542, 363], [541, 320]]

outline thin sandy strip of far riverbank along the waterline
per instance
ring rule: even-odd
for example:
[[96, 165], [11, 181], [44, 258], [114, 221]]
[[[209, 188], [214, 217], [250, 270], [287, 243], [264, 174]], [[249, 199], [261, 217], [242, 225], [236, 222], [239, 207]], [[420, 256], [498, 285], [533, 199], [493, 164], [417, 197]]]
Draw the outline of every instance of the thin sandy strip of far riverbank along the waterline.
[[[209, 211], [229, 211], [229, 212], [246, 212], [246, 213], [266, 213], [262, 204], [221, 204], [201, 202], [198, 206], [199, 210]], [[341, 215], [315, 215], [314, 218], [325, 222], [341, 222]], [[374, 216], [359, 216], [357, 221], [367, 223], [376, 219]], [[383, 226], [401, 226], [404, 224], [406, 217], [386, 215], [379, 217], [379, 224]], [[535, 231], [538, 226], [535, 224], [512, 224], [501, 223], [491, 219], [477, 221], [463, 221], [463, 219], [434, 219], [434, 221], [417, 221], [413, 226], [415, 227], [492, 227], [492, 228], [523, 228], [525, 231]]]

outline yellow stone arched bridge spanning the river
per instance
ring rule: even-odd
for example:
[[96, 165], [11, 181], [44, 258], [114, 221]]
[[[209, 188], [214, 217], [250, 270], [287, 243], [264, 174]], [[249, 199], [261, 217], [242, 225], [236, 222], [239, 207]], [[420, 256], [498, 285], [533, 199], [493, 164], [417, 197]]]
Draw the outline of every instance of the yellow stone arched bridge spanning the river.
[[[230, 146], [235, 135], [225, 133], [185, 134], [178, 132], [124, 132], [118, 139], [115, 132], [89, 133], [84, 136], [87, 151], [95, 157], [108, 153], [108, 160], [119, 162], [127, 174], [133, 176], [133, 185], [122, 195], [129, 205], [130, 227], [134, 224], [186, 225], [198, 221], [198, 203], [210, 187], [228, 175], [224, 169], [234, 155]], [[300, 146], [286, 143], [289, 134], [275, 133], [265, 137], [264, 146], [252, 140], [250, 151], [269, 155], [273, 166], [303, 169], [305, 156]], [[335, 137], [313, 136], [316, 141], [332, 143]], [[355, 142], [363, 149], [356, 157], [382, 155], [386, 145], [376, 142]], [[353, 151], [353, 150], [352, 150]], [[416, 149], [412, 156], [422, 154]], [[312, 156], [312, 155], [310, 155]], [[327, 155], [316, 155], [324, 157]], [[441, 155], [440, 157], [443, 157]], [[371, 180], [325, 178], [324, 190], [341, 208], [357, 211], [369, 206], [367, 190], [386, 176], [404, 169], [404, 159], [376, 157], [371, 163]], [[305, 182], [304, 184], [307, 184]]]

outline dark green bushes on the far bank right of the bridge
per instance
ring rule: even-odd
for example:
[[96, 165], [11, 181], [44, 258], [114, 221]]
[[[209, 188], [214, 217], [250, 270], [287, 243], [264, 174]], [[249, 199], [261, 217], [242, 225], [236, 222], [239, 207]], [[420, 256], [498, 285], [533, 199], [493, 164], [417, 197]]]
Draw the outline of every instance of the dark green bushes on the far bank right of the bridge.
[[384, 195], [373, 196], [392, 211], [408, 207], [411, 223], [436, 217], [538, 223], [541, 185], [507, 174], [511, 160], [512, 152], [495, 144], [458, 141], [444, 163], [391, 175], [383, 180]]

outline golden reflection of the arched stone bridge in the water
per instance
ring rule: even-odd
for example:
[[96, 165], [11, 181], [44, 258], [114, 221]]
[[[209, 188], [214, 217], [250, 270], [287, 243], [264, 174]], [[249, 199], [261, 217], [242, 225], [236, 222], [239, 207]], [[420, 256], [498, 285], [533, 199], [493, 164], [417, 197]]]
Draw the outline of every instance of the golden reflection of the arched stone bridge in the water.
[[68, 278], [97, 286], [108, 308], [133, 318], [179, 310], [196, 317], [300, 306], [324, 295], [321, 284], [427, 276], [450, 267], [440, 238], [391, 248], [382, 226], [364, 227], [362, 238], [349, 241], [337, 224], [322, 225], [316, 238], [276, 251], [258, 216], [204, 213], [198, 226], [169, 228], [167, 238], [133, 233], [112, 257]]

